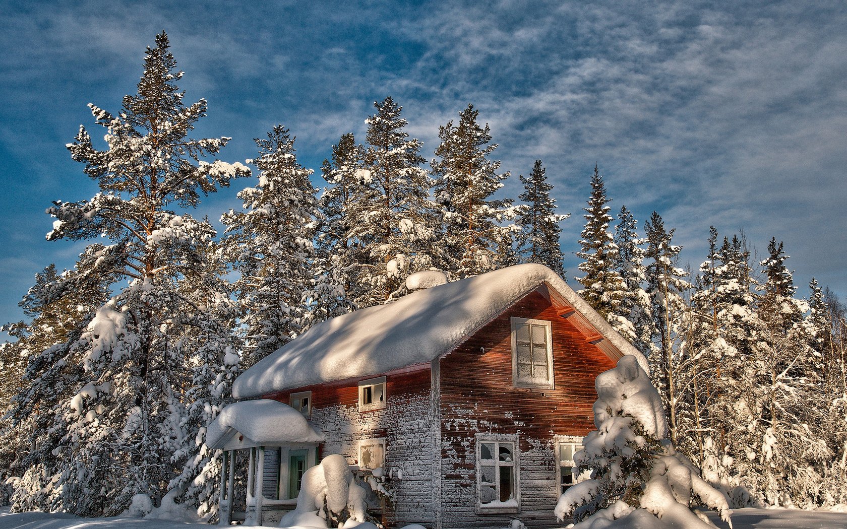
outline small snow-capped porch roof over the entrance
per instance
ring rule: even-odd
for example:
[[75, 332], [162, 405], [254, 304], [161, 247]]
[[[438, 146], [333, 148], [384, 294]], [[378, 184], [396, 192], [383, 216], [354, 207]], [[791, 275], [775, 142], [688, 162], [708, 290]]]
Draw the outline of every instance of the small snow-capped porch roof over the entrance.
[[299, 411], [277, 400], [242, 400], [227, 405], [209, 423], [206, 444], [224, 448], [240, 434], [241, 447], [274, 444], [323, 443], [324, 434], [306, 422]]

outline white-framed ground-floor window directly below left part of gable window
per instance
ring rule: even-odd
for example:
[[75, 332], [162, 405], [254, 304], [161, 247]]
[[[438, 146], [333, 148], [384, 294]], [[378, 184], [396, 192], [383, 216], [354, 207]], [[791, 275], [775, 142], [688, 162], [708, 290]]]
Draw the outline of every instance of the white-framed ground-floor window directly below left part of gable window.
[[478, 434], [477, 510], [518, 512], [518, 436]]

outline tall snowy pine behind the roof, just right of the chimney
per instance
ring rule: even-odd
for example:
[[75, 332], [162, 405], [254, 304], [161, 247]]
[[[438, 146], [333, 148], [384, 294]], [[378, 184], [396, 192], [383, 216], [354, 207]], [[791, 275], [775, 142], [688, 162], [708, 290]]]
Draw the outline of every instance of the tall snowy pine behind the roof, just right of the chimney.
[[512, 201], [492, 198], [509, 174], [497, 174], [500, 162], [489, 159], [497, 146], [490, 144], [488, 124], [480, 127], [478, 118], [479, 110], [468, 105], [459, 113], [458, 124], [451, 120], [440, 127], [438, 158], [430, 163], [440, 239], [446, 248], [440, 267], [459, 277], [504, 266], [501, 256], [508, 255], [505, 249], [512, 240], [511, 229], [500, 225], [513, 218]]

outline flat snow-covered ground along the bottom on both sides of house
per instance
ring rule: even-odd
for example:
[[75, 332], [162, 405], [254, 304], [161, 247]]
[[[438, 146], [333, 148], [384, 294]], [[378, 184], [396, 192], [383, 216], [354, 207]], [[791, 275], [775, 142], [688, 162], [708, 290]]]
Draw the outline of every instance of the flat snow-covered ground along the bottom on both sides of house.
[[[712, 513], [712, 522], [727, 525]], [[75, 518], [47, 513], [8, 514], [0, 510], [0, 529], [203, 529], [207, 524], [136, 518]], [[739, 509], [733, 514], [734, 529], [844, 529], [847, 513], [823, 510]]]

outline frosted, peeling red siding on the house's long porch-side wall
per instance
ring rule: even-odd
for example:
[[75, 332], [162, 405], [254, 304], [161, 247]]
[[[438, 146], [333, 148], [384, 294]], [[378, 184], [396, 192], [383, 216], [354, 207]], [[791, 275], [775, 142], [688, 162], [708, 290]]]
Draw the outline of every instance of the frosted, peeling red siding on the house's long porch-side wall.
[[[362, 380], [383, 374], [363, 377]], [[263, 395], [265, 399], [289, 402], [289, 395], [312, 392], [312, 417], [309, 423], [326, 435], [320, 458], [330, 454], [346, 457], [358, 464], [359, 441], [385, 438], [385, 468], [393, 470], [393, 508], [386, 513], [392, 526], [418, 523], [430, 526], [435, 518], [432, 479], [435, 453], [436, 423], [433, 419], [431, 373], [429, 366], [385, 373], [385, 408], [358, 411], [359, 379], [327, 383], [291, 391]]]

